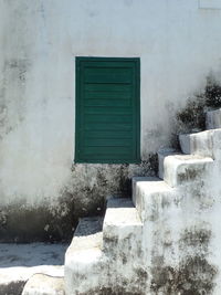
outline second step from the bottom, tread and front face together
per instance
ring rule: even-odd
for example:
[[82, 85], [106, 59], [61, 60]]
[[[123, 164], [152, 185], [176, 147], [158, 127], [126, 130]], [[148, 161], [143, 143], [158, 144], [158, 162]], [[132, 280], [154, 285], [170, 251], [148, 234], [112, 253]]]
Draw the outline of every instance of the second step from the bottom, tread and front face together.
[[116, 243], [140, 231], [141, 226], [143, 223], [130, 199], [109, 199], [103, 225], [104, 249], [116, 246]]

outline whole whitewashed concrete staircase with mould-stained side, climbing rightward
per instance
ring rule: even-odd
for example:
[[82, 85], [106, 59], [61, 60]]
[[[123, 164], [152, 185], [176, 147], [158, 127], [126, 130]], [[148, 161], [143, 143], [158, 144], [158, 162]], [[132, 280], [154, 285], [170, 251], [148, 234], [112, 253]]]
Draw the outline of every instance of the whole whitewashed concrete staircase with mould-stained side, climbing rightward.
[[221, 109], [207, 128], [179, 136], [182, 154], [160, 150], [159, 177], [134, 178], [133, 200], [109, 199], [104, 221], [80, 221], [66, 295], [221, 294]]

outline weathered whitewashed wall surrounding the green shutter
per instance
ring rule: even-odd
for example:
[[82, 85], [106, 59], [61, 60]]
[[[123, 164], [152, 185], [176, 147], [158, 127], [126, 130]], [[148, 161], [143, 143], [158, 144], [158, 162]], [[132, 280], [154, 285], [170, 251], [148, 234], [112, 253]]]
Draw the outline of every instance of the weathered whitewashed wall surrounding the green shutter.
[[[125, 193], [128, 176], [152, 172], [172, 116], [220, 65], [221, 10], [206, 4], [0, 1], [0, 236], [28, 239], [32, 217], [33, 239], [64, 238], [106, 194]], [[140, 57], [143, 165], [73, 165], [81, 55]]]

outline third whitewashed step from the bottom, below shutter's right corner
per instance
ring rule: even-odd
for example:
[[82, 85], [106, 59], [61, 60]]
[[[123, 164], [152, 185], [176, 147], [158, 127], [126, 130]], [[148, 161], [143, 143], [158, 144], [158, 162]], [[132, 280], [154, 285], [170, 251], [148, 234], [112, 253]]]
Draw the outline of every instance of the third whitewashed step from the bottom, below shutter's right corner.
[[175, 193], [176, 189], [157, 177], [133, 178], [133, 201], [143, 222], [159, 218], [159, 211], [156, 209], [157, 203], [162, 200], [161, 206], [164, 206], [164, 200]]

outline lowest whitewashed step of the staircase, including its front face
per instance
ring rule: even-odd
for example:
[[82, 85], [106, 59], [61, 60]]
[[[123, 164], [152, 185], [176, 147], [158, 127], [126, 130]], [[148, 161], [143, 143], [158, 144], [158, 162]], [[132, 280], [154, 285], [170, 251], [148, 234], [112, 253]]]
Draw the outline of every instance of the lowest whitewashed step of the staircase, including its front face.
[[103, 255], [102, 218], [81, 219], [65, 254], [65, 294], [84, 294], [102, 284], [106, 268]]

